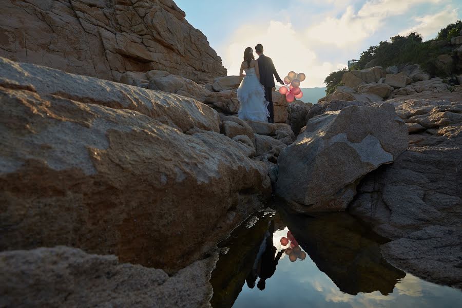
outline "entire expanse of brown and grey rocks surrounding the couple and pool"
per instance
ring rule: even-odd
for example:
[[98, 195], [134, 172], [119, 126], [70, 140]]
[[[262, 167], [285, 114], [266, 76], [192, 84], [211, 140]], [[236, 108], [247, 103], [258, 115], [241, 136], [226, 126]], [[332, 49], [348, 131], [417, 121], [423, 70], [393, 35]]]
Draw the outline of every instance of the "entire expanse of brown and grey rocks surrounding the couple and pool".
[[0, 306], [210, 306], [217, 244], [272, 194], [348, 211], [391, 239], [387, 261], [462, 288], [462, 85], [375, 66], [314, 105], [274, 92], [275, 124], [242, 121], [239, 76], [184, 12], [134, 3], [0, 13]]

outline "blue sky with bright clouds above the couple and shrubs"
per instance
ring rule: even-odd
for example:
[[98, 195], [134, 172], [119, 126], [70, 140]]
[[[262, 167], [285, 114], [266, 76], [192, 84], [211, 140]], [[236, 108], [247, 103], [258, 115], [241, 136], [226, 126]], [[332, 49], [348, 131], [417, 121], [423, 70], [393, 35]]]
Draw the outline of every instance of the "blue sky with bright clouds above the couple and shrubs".
[[[244, 49], [261, 43], [284, 78], [306, 74], [302, 88], [396, 34], [425, 40], [462, 19], [461, 0], [175, 0], [207, 36], [228, 75], [238, 75]], [[257, 55], [255, 54], [257, 57]]]

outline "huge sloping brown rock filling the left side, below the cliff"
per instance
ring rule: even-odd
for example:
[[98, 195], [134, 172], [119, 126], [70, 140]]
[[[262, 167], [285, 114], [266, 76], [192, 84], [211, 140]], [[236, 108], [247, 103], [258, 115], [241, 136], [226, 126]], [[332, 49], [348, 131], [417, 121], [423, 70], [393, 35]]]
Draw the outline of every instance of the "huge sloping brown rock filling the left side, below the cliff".
[[[194, 99], [3, 58], [0, 75], [2, 250], [70, 245], [174, 271], [271, 194]], [[166, 239], [175, 249], [146, 249]]]

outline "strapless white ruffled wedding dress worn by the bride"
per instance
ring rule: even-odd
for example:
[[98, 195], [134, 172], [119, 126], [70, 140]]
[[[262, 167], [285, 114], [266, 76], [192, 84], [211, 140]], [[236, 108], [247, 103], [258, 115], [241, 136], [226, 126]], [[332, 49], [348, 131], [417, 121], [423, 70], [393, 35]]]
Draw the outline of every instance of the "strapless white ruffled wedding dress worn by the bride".
[[268, 122], [268, 102], [265, 91], [255, 74], [255, 68], [244, 69], [245, 77], [237, 89], [237, 97], [241, 106], [238, 116], [242, 120]]

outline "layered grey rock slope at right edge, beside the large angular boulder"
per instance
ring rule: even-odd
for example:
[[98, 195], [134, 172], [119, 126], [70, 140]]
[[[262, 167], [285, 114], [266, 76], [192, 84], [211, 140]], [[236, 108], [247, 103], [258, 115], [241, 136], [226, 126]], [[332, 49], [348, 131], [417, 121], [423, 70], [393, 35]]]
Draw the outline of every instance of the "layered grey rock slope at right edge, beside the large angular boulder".
[[366, 176], [350, 212], [395, 241], [390, 262], [413, 275], [460, 285], [462, 98], [422, 92], [389, 100], [409, 127], [410, 147]]

